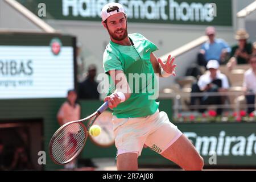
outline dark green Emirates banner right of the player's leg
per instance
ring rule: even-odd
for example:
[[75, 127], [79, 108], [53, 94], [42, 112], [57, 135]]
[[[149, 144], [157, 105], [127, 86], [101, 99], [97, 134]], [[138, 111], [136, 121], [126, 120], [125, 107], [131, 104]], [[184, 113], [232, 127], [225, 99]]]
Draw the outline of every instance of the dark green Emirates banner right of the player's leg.
[[192, 141], [206, 166], [256, 167], [256, 122], [184, 123], [177, 127]]

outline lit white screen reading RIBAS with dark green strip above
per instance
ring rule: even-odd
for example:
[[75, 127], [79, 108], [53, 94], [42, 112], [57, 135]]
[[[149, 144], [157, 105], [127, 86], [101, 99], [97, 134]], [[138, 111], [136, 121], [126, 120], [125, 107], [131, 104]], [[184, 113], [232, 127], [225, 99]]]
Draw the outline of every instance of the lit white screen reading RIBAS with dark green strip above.
[[0, 34], [0, 100], [66, 97], [73, 53], [71, 36]]

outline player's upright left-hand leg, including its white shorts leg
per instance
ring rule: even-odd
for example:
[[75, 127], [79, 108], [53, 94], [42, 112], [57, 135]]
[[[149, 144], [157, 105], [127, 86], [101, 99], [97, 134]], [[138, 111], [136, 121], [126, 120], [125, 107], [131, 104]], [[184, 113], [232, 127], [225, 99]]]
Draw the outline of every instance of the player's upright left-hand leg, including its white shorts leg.
[[147, 127], [140, 124], [141, 121], [145, 122], [143, 118], [117, 119], [113, 117], [117, 169], [120, 171], [138, 170], [138, 156], [141, 155], [147, 138], [145, 135]]

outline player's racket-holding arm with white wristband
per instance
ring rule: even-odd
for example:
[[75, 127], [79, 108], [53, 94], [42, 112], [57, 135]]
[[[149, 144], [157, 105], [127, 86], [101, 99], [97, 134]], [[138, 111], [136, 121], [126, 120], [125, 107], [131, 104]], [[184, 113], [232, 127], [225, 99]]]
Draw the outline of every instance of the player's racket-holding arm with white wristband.
[[109, 101], [109, 107], [113, 109], [121, 102], [125, 102], [131, 96], [131, 91], [122, 70], [111, 70], [108, 73], [115, 83], [115, 91], [110, 96], [105, 97], [104, 101]]

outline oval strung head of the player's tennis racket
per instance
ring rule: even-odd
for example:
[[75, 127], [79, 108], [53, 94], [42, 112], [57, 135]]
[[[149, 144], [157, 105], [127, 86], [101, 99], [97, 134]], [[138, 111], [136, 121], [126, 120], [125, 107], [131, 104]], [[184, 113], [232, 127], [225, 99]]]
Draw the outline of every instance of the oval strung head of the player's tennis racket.
[[87, 132], [80, 122], [63, 127], [52, 142], [52, 157], [60, 164], [80, 153], [84, 146]]

